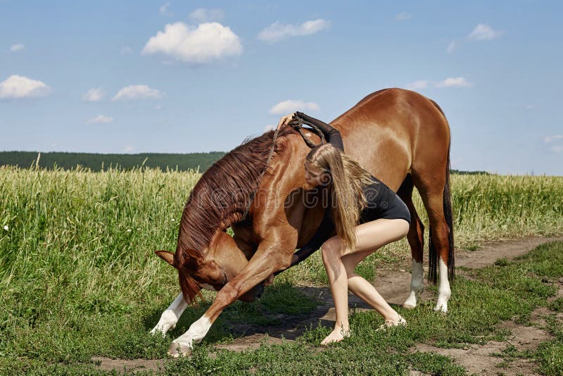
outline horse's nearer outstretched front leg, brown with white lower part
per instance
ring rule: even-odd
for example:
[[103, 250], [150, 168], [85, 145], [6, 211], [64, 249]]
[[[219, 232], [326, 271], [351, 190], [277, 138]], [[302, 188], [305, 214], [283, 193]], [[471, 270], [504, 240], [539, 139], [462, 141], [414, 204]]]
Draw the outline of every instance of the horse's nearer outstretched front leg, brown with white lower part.
[[191, 324], [187, 332], [172, 341], [168, 350], [170, 356], [177, 358], [181, 355], [189, 355], [191, 350], [194, 349], [194, 344], [201, 342], [224, 308], [265, 280], [273, 272], [289, 266], [293, 253], [291, 240], [284, 239], [284, 242], [280, 242], [279, 239], [279, 237], [272, 237], [270, 241], [264, 240], [260, 243], [258, 251], [248, 262], [248, 265], [217, 292], [213, 303], [203, 316]]

